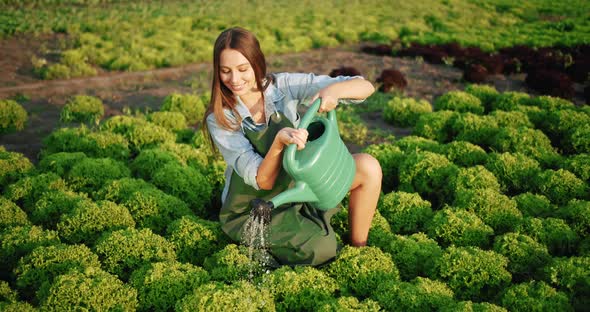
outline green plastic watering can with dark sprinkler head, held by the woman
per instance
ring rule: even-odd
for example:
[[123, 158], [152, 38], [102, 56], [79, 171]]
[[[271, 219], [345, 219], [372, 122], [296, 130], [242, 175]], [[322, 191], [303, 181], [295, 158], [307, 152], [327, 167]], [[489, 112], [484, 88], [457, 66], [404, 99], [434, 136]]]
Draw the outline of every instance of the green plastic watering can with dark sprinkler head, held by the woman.
[[298, 151], [296, 144], [290, 144], [283, 155], [283, 168], [295, 185], [268, 202], [250, 202], [252, 213], [267, 222], [274, 207], [308, 202], [325, 211], [336, 207], [350, 190], [356, 173], [354, 159], [340, 138], [336, 112], [328, 112], [328, 118], [316, 116], [320, 105], [321, 100], [315, 100], [299, 123], [299, 129], [309, 132], [305, 148]]

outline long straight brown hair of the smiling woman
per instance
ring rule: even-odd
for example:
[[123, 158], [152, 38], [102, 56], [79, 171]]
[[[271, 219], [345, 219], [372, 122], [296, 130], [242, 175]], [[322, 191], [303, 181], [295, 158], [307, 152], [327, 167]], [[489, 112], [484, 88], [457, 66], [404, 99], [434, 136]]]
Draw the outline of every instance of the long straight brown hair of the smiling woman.
[[[264, 54], [260, 49], [258, 39], [250, 31], [241, 28], [234, 27], [224, 30], [217, 40], [215, 40], [215, 46], [213, 47], [213, 83], [211, 84], [211, 100], [209, 106], [203, 117], [203, 131], [205, 137], [211, 140], [211, 135], [207, 129], [207, 116], [210, 114], [215, 115], [217, 123], [226, 129], [238, 130], [242, 119], [236, 109], [237, 99], [230, 89], [228, 89], [219, 77], [220, 71], [220, 58], [221, 52], [225, 49], [236, 50], [250, 62], [250, 66], [254, 70], [254, 77], [256, 79], [256, 86], [262, 93], [262, 101], [264, 103], [264, 90], [271, 82], [271, 77], [267, 77], [266, 74], [266, 60]], [[264, 78], [267, 78], [266, 84], [263, 84]], [[237, 123], [233, 123], [228, 120], [223, 113], [224, 109], [230, 109], [234, 116], [237, 118]], [[212, 143], [212, 142], [211, 142]], [[211, 144], [213, 147], [214, 145]]]

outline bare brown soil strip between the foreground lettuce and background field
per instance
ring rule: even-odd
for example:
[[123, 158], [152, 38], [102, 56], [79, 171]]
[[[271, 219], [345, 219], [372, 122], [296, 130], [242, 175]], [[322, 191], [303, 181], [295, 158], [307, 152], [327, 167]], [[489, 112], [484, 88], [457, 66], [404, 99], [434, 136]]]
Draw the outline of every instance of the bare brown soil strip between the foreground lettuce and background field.
[[[0, 136], [0, 145], [23, 153], [32, 161], [42, 148], [42, 139], [60, 126], [59, 114], [74, 95], [87, 94], [102, 99], [106, 116], [121, 114], [124, 108], [157, 110], [164, 97], [172, 92], [204, 92], [209, 89], [211, 64], [190, 64], [145, 72], [102, 73], [97, 77], [42, 81], [35, 78], [30, 62], [40, 47], [56, 46], [63, 38], [21, 38], [0, 41], [0, 99], [20, 97], [29, 113], [27, 127], [20, 132]], [[270, 72], [314, 72], [328, 74], [332, 69], [349, 66], [375, 81], [385, 68], [395, 67], [408, 81], [403, 94], [432, 102], [437, 96], [465, 86], [460, 70], [451, 66], [431, 65], [419, 59], [374, 56], [360, 52], [359, 46], [327, 48], [304, 53], [267, 57]], [[488, 83], [499, 91], [528, 92], [524, 76], [493, 76]], [[581, 86], [577, 86], [581, 94]], [[364, 116], [369, 128], [383, 128], [396, 136], [409, 129], [392, 127], [380, 116]], [[352, 147], [358, 150], [360, 147]]]

